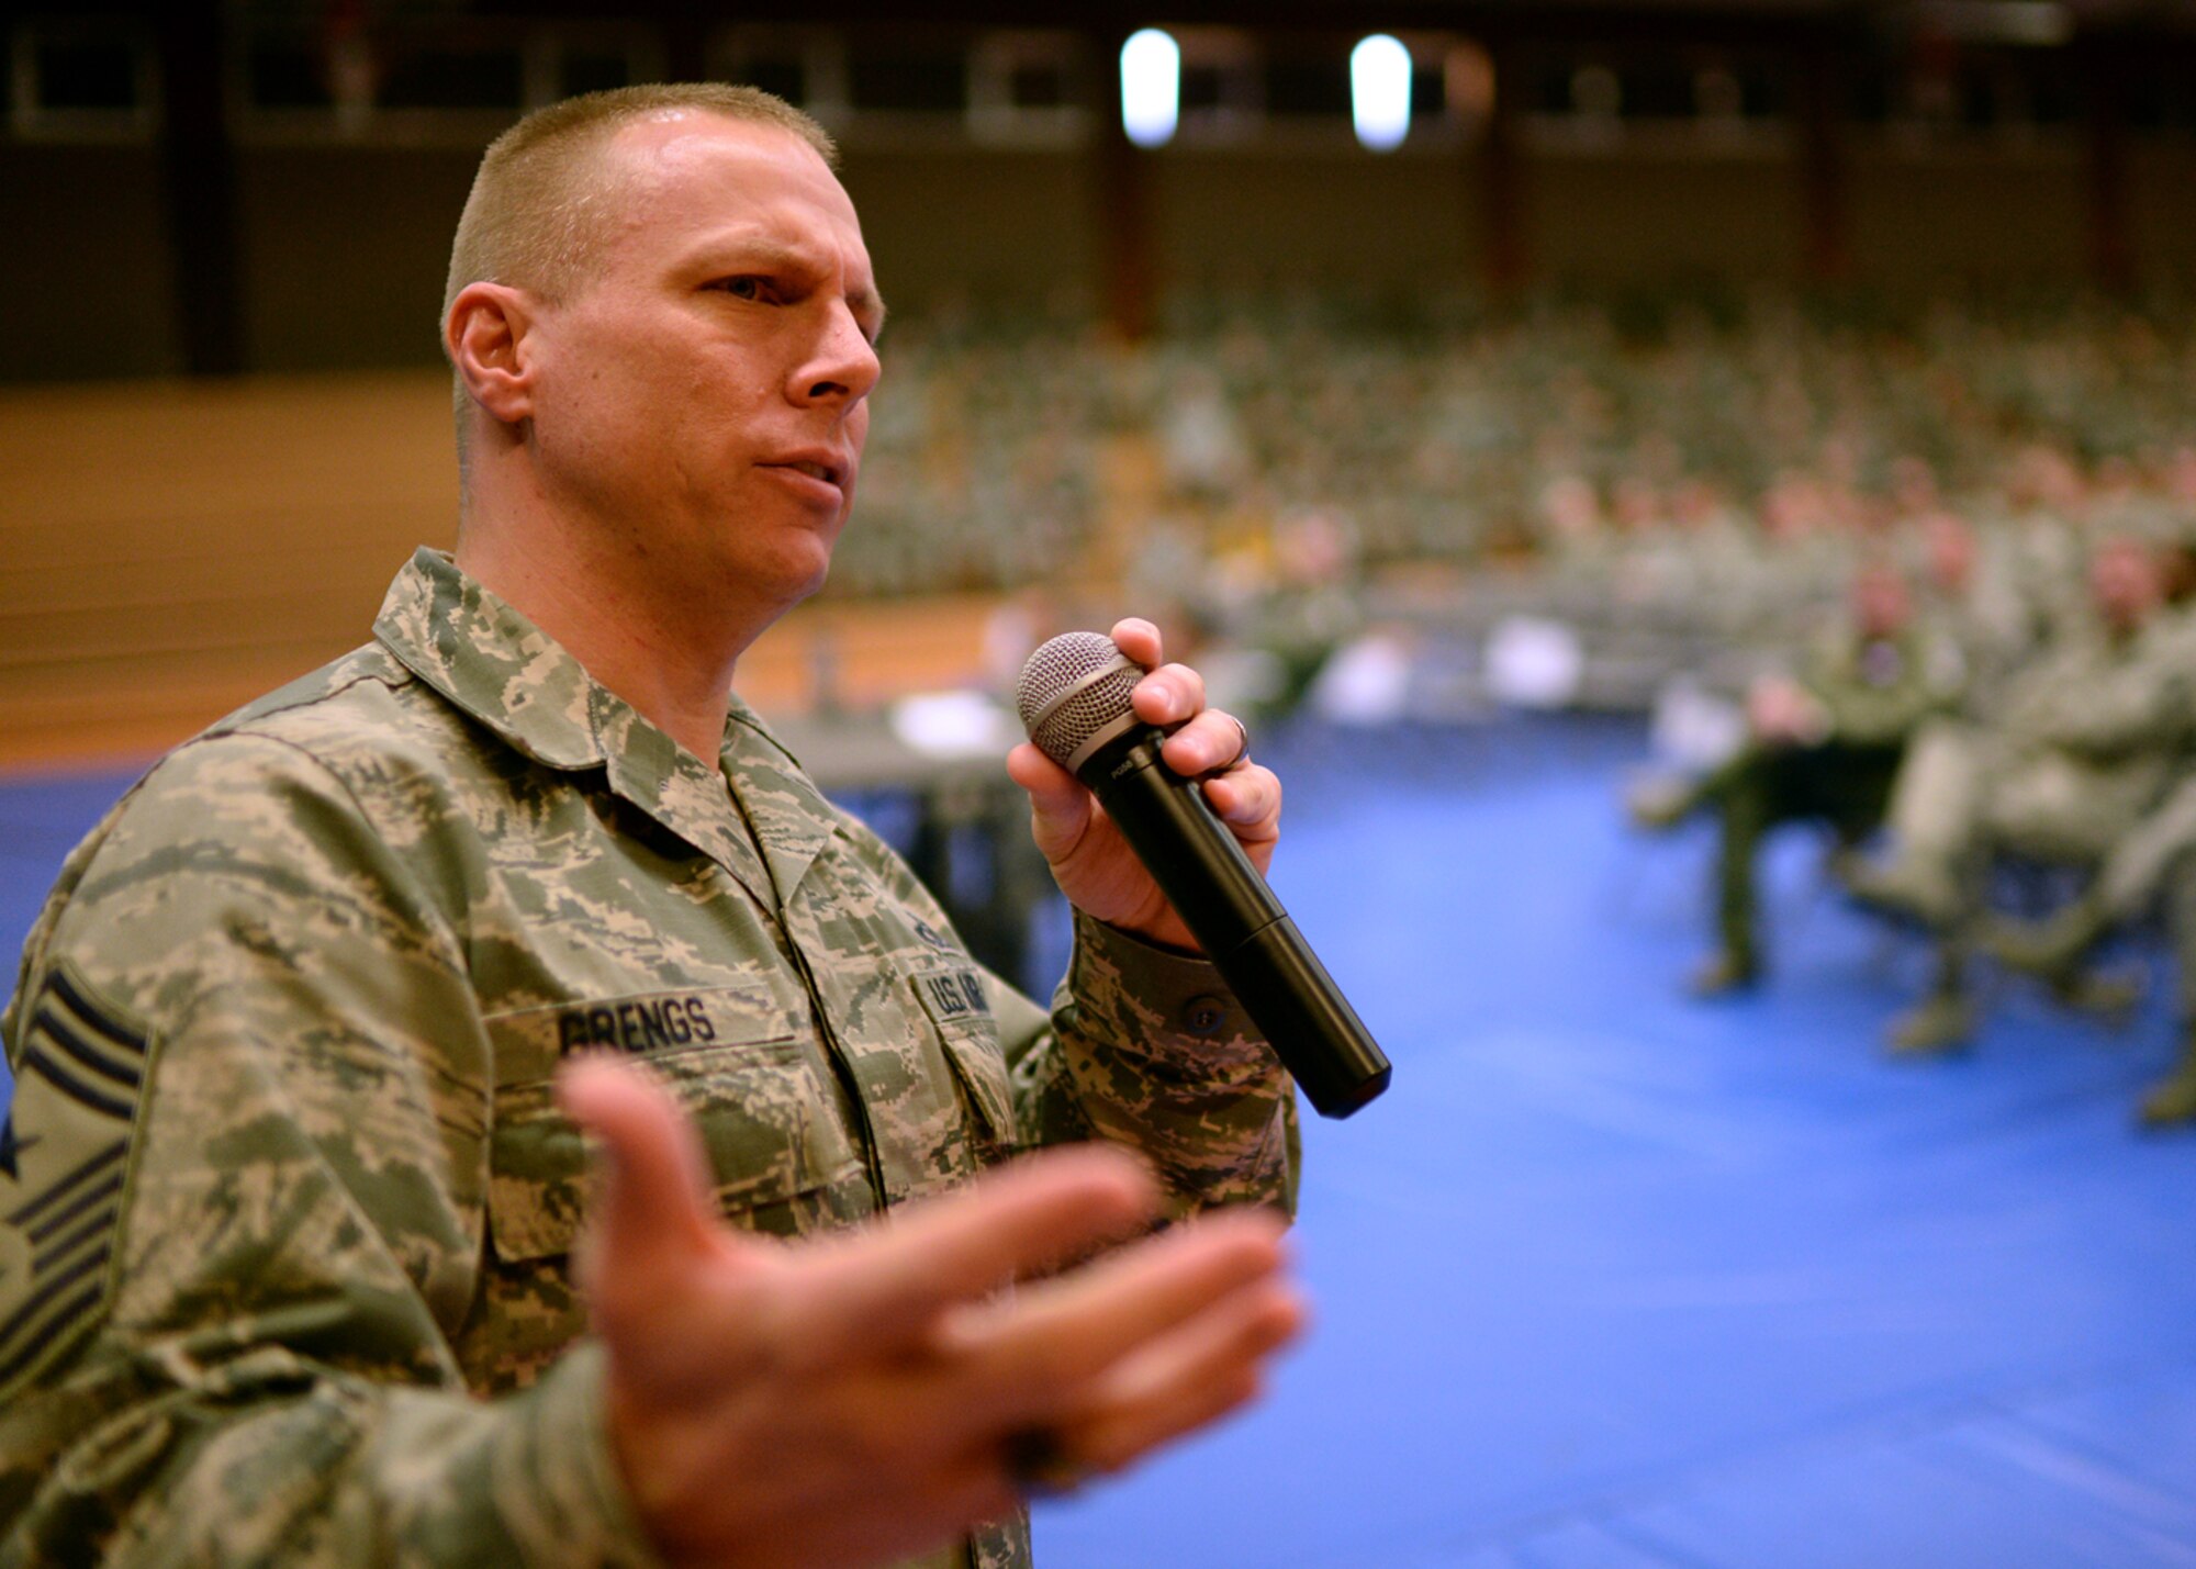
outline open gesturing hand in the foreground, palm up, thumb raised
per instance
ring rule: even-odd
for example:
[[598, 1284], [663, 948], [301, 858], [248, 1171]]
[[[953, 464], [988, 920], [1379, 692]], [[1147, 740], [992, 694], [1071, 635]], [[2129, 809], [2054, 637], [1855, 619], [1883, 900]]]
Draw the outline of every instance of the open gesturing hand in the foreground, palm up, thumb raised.
[[[602, 1140], [580, 1288], [608, 1426], [672, 1565], [870, 1565], [1008, 1512], [1017, 1435], [1118, 1470], [1256, 1393], [1300, 1323], [1280, 1220], [1236, 1211], [1034, 1279], [1135, 1233], [1133, 1160], [1061, 1149], [802, 1244], [709, 1204], [692, 1123], [608, 1059], [562, 1079]], [[1001, 1292], [1012, 1281], [1012, 1292]]]

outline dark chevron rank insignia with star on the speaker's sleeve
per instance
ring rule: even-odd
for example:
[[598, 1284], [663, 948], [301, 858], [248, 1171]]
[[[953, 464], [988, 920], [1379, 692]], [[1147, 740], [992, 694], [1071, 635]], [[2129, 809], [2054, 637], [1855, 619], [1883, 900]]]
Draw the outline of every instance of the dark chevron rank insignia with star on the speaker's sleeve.
[[99, 1318], [145, 1081], [145, 1031], [66, 967], [22, 1020], [0, 1123], [0, 1400]]

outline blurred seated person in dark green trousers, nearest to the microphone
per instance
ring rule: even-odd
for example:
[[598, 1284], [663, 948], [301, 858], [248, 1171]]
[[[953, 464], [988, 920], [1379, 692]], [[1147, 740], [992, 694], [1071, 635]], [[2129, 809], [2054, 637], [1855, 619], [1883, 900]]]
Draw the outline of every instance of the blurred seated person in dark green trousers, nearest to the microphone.
[[1693, 991], [1719, 995], [1761, 973], [1755, 859], [1781, 822], [1818, 820], [1851, 848], [1884, 815], [1906, 734], [1959, 697], [1959, 661], [1913, 624], [1906, 585], [1884, 567], [1853, 580], [1851, 620], [1814, 650], [1803, 675], [1748, 692], [1748, 738], [1691, 787], [1643, 789], [1632, 813], [1665, 828], [1713, 809], [1719, 947]]

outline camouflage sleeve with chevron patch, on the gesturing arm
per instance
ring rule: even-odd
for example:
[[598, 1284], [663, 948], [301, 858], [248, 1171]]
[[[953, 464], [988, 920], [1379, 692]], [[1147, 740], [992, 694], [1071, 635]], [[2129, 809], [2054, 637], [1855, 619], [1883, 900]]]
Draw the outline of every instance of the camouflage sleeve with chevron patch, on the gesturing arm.
[[7, 1020], [11, 1145], [26, 1187], [35, 1138], [125, 1176], [88, 1220], [105, 1189], [44, 1187], [81, 1189], [103, 1310], [11, 1343], [0, 1562], [652, 1562], [595, 1349], [463, 1389], [488, 1048], [400, 855], [321, 765], [228, 736], [64, 870]]

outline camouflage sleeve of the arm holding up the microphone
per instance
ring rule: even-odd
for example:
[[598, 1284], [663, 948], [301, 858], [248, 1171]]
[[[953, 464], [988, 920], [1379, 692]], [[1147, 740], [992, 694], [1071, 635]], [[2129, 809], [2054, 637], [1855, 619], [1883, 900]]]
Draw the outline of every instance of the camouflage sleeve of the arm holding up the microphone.
[[[881, 844], [874, 853], [898, 897], [944, 923], [914, 872]], [[1296, 1086], [1208, 960], [1076, 912], [1074, 960], [1050, 1015], [988, 971], [986, 989], [1021, 1145], [1107, 1138], [1138, 1149], [1175, 1217], [1219, 1204], [1296, 1213]]]

